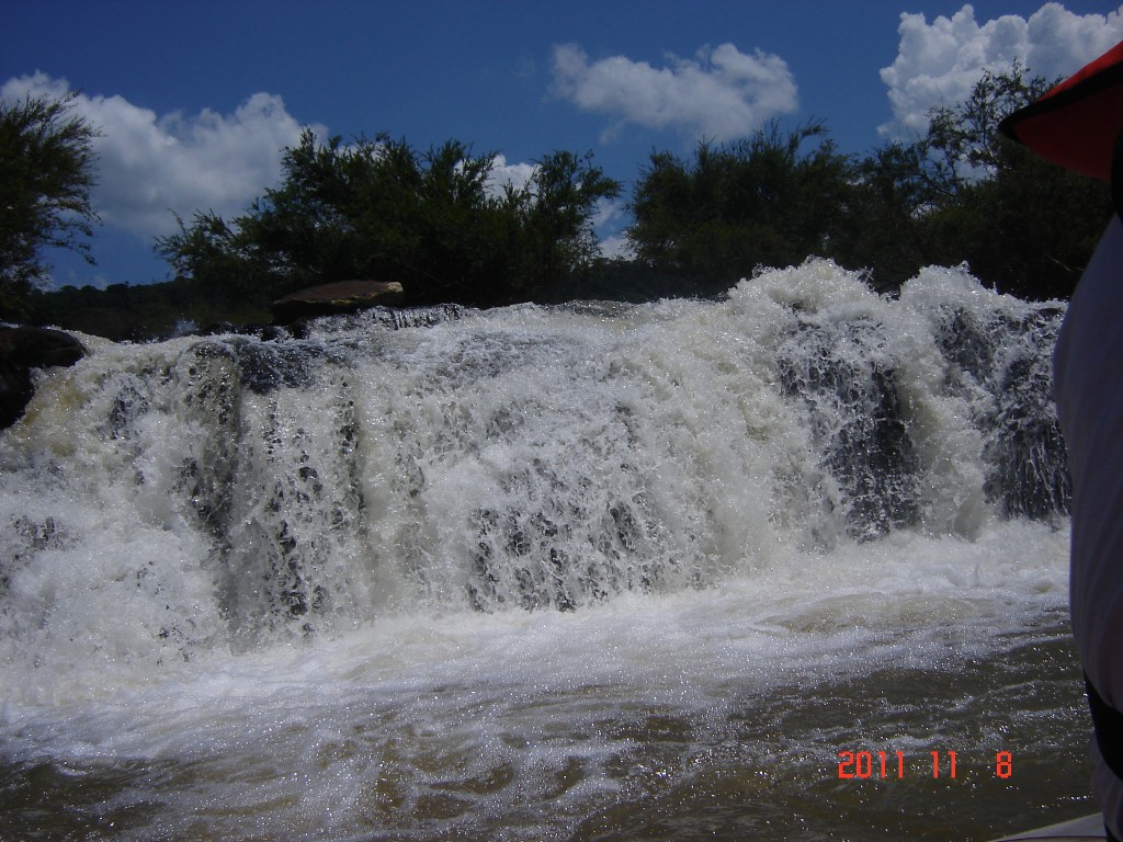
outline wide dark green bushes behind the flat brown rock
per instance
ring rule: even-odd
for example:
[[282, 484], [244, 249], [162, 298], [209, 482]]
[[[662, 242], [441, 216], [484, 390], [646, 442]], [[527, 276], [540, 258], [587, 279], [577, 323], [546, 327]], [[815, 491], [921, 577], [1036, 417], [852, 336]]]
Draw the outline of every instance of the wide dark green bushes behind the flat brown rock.
[[413, 303], [531, 300], [592, 262], [596, 202], [619, 185], [590, 155], [558, 152], [500, 192], [494, 159], [456, 140], [419, 154], [385, 135], [321, 145], [305, 130], [248, 213], [197, 214], [157, 249], [212, 296], [372, 278], [401, 282]]

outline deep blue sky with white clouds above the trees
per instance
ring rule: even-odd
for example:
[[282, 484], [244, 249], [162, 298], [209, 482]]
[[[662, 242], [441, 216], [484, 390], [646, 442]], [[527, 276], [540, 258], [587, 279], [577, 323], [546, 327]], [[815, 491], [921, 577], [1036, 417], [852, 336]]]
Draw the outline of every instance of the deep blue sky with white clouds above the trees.
[[624, 183], [600, 218], [612, 250], [652, 150], [819, 119], [864, 154], [984, 66], [1065, 75], [1121, 39], [1123, 6], [1084, 0], [6, 0], [0, 98], [81, 92], [102, 131], [99, 265], [51, 259], [56, 285], [104, 286], [165, 280], [152, 244], [172, 212], [237, 214], [302, 126], [456, 138], [514, 180], [591, 150]]

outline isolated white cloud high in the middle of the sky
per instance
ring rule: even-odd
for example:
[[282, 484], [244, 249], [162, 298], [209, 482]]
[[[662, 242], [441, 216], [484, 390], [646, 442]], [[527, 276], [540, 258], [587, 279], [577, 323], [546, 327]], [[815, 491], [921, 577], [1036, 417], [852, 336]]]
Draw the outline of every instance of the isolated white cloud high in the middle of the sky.
[[668, 56], [652, 67], [624, 56], [596, 62], [576, 44], [554, 47], [553, 91], [585, 111], [608, 116], [604, 139], [628, 123], [729, 140], [752, 134], [798, 106], [783, 58], [746, 55], [732, 44], [705, 47], [693, 60]]

